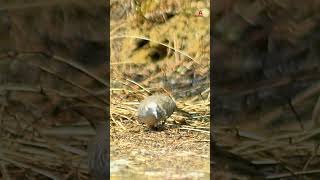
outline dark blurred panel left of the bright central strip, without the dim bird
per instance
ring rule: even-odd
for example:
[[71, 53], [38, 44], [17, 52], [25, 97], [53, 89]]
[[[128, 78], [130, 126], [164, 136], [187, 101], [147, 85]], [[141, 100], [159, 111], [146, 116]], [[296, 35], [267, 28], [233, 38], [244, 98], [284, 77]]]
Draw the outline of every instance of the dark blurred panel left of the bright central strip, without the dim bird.
[[0, 179], [88, 179], [107, 114], [105, 1], [1, 1]]

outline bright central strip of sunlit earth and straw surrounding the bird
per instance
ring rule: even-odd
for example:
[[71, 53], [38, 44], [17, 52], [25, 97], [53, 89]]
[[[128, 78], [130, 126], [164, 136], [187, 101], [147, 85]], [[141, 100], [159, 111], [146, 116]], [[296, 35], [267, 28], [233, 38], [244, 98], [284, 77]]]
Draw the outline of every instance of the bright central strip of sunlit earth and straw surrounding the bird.
[[[210, 19], [195, 16], [209, 1], [162, 1], [157, 11], [148, 2], [134, 11], [123, 1], [124, 16], [111, 2], [111, 177], [209, 179]], [[189, 114], [147, 129], [136, 109], [152, 93], [171, 95]]]

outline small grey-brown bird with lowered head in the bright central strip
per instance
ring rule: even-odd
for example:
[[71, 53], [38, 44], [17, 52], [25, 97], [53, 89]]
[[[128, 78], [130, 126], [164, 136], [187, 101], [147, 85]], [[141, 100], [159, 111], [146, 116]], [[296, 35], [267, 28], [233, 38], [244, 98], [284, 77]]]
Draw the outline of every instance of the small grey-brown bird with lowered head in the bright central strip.
[[148, 128], [157, 129], [173, 114], [177, 106], [167, 95], [156, 94], [146, 97], [138, 106], [138, 120]]

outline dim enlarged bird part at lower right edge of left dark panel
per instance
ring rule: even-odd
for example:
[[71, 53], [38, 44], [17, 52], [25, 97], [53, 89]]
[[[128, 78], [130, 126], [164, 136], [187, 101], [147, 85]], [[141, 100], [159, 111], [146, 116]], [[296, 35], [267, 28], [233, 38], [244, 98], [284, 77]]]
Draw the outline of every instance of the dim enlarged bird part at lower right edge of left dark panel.
[[100, 123], [96, 128], [96, 136], [88, 145], [89, 172], [96, 180], [104, 180], [109, 177], [109, 142], [107, 123]]

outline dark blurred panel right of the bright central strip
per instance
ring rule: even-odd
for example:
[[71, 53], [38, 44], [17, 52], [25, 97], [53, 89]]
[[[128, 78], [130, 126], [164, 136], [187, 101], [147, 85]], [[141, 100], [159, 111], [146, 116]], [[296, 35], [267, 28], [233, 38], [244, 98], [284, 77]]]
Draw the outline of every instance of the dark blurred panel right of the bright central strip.
[[211, 5], [214, 173], [319, 178], [319, 1]]

